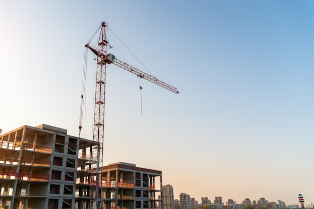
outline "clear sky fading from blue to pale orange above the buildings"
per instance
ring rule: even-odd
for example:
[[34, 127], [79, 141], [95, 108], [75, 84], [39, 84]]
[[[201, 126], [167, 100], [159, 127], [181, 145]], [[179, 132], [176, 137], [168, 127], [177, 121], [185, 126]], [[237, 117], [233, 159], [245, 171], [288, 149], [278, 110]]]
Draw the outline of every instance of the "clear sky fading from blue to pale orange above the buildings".
[[[314, 201], [313, 10], [312, 0], [1, 0], [0, 128], [78, 136], [84, 45], [107, 21], [180, 93], [108, 65], [104, 164], [162, 170], [176, 198]], [[89, 53], [89, 139], [94, 65]]]

